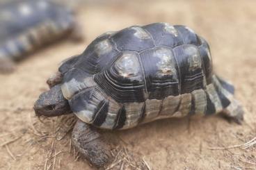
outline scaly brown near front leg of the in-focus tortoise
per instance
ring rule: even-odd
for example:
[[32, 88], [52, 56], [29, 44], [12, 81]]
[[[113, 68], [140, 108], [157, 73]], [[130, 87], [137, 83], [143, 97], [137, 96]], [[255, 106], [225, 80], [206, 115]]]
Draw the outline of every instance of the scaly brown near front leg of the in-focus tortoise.
[[106, 167], [112, 160], [111, 145], [95, 127], [81, 120], [74, 126], [72, 143], [95, 167]]

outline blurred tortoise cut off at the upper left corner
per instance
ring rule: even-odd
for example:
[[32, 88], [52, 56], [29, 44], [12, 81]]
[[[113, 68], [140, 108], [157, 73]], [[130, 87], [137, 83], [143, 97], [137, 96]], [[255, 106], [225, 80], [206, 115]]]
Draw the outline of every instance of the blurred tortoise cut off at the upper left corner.
[[47, 0], [10, 1], [0, 6], [0, 71], [13, 71], [21, 60], [38, 47], [70, 35], [81, 40], [74, 12]]

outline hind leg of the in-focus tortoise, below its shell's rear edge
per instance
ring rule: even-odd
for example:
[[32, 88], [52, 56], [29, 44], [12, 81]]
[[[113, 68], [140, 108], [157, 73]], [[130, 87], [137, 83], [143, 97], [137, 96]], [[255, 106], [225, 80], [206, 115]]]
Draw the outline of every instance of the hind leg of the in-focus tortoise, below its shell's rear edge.
[[232, 99], [230, 105], [223, 109], [222, 113], [237, 124], [242, 124], [243, 122], [243, 107], [236, 99]]

